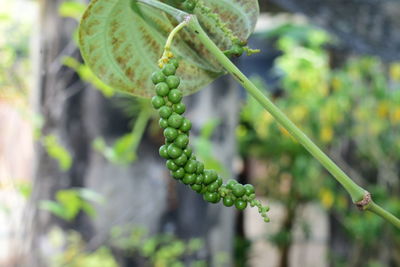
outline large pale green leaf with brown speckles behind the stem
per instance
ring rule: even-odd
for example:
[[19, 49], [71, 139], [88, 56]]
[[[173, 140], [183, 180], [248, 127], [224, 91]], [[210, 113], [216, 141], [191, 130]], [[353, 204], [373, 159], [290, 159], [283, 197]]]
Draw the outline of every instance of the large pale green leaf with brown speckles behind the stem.
[[[255, 27], [257, 0], [203, 0], [220, 14], [227, 26], [241, 39]], [[79, 41], [82, 56], [92, 71], [106, 84], [135, 96], [151, 97], [154, 86], [150, 75], [157, 69], [169, 32], [178, 24], [166, 13], [129, 0], [92, 0], [81, 20]], [[196, 14], [210, 37], [222, 49], [231, 44], [214, 22]], [[191, 94], [209, 84], [224, 70], [196, 37], [183, 30], [172, 48], [181, 59], [178, 75], [181, 90]]]

